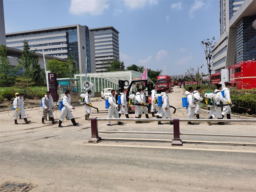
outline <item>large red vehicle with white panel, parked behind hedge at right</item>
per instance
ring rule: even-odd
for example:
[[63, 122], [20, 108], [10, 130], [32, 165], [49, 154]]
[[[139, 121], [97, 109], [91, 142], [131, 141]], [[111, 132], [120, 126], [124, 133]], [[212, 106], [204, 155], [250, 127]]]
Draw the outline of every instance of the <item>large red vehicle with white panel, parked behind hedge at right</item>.
[[256, 61], [242, 61], [211, 75], [214, 85], [229, 82], [237, 89], [256, 88]]

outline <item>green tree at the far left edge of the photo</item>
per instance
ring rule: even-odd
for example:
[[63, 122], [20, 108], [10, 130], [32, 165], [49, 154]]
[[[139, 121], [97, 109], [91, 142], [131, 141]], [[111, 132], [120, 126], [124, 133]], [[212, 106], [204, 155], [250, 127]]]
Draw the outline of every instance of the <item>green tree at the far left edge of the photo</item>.
[[0, 46], [0, 86], [9, 87], [14, 84], [18, 67], [12, 67], [7, 57], [6, 45]]

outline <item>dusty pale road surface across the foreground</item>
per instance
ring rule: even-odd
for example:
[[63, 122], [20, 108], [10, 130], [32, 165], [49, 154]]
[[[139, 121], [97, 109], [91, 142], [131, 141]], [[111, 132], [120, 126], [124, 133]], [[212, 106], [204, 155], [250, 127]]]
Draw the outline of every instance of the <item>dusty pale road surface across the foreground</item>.
[[[186, 116], [183, 94], [177, 87], [169, 94], [170, 105], [177, 108], [173, 117]], [[100, 113], [93, 109], [90, 117], [106, 118], [104, 100], [92, 100]], [[31, 191], [37, 192], [256, 191], [255, 138], [181, 135], [183, 146], [172, 146], [171, 134], [99, 133], [101, 142], [88, 143], [91, 127], [84, 120], [85, 108], [75, 108], [72, 113], [79, 126], [65, 120], [63, 128], [41, 124], [38, 108], [26, 109], [28, 125], [23, 120], [14, 125], [13, 117], [1, 114], [0, 184], [31, 182], [38, 185]], [[208, 113], [200, 116], [208, 118]], [[157, 121], [112, 124], [98, 122], [98, 129], [173, 132], [172, 125]], [[180, 132], [256, 135], [254, 123], [195, 124], [181, 122]]]

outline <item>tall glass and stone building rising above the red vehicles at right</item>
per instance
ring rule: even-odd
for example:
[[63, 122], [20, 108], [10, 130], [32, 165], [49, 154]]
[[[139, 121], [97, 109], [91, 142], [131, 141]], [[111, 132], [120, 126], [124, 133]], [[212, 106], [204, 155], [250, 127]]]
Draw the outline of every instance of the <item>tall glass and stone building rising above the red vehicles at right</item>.
[[220, 0], [220, 37], [213, 48], [213, 70], [256, 59], [256, 1]]

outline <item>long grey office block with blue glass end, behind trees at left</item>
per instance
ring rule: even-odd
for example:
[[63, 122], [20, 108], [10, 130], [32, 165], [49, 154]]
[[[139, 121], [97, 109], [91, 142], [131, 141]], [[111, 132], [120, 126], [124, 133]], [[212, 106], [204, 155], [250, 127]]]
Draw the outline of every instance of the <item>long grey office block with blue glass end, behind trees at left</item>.
[[23, 49], [23, 41], [27, 40], [30, 50], [38, 53], [67, 59], [69, 53], [76, 61], [77, 68], [85, 73], [87, 57], [87, 73], [96, 72], [94, 33], [87, 26], [70, 25], [6, 34], [6, 46]]

